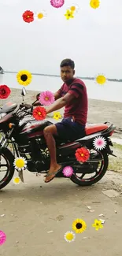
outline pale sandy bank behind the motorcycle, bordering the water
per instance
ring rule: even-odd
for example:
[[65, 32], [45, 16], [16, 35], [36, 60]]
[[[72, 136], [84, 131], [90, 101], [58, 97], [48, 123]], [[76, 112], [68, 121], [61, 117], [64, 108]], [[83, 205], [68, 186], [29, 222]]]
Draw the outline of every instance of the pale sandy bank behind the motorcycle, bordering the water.
[[[20, 95], [21, 89], [11, 89], [11, 94], [6, 99], [1, 99], [0, 104], [6, 104], [6, 102], [22, 102], [22, 96]], [[26, 87], [25, 87], [26, 89]], [[27, 91], [27, 95], [24, 97], [24, 102], [31, 104], [35, 101], [36, 95], [39, 91]], [[57, 110], [58, 111], [58, 110]], [[61, 115], [64, 112], [64, 108], [59, 109]], [[52, 117], [53, 113], [50, 113]], [[88, 98], [88, 117], [87, 123], [97, 124], [109, 121], [116, 126], [116, 130], [113, 136], [122, 139], [122, 103], [121, 102], [109, 102], [105, 100]]]

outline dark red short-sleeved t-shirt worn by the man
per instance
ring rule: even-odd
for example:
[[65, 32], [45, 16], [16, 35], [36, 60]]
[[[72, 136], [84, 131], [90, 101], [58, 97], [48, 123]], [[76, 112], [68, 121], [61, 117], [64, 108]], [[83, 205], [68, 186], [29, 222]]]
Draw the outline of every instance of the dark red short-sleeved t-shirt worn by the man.
[[79, 124], [86, 125], [87, 123], [87, 87], [82, 80], [75, 78], [70, 85], [63, 83], [57, 91], [61, 97], [70, 93], [75, 96], [72, 102], [65, 106], [64, 117], [74, 117], [74, 120]]

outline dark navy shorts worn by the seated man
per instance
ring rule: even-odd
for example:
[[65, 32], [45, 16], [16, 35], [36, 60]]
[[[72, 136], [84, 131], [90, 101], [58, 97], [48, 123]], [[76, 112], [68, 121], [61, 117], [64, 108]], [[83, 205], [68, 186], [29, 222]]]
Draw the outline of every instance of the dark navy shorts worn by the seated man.
[[64, 118], [60, 123], [55, 124], [59, 139], [75, 140], [86, 135], [85, 125], [72, 121], [72, 117]]

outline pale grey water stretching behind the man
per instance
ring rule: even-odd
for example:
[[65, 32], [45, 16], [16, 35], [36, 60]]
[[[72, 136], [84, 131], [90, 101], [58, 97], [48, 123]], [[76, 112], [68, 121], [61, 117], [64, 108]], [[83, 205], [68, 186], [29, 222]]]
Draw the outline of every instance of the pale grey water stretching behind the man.
[[[6, 84], [10, 88], [21, 89], [17, 83], [17, 74], [5, 73], [0, 75], [0, 84]], [[101, 99], [112, 102], [122, 102], [122, 83], [106, 81], [104, 85], [95, 83], [94, 80], [83, 80], [87, 86], [88, 98]], [[31, 84], [26, 87], [31, 91], [57, 91], [61, 85], [60, 77], [51, 76], [32, 76]]]

